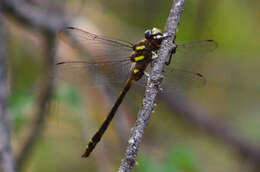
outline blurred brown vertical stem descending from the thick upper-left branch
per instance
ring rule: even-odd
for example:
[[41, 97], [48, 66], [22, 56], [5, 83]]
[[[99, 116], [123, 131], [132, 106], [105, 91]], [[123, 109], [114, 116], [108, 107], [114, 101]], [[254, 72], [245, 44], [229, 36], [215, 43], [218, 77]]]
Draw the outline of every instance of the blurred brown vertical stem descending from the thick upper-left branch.
[[24, 167], [25, 162], [29, 158], [29, 154], [35, 146], [36, 141], [41, 137], [45, 127], [45, 118], [50, 106], [48, 102], [52, 96], [53, 91], [53, 76], [55, 67], [55, 50], [56, 50], [56, 37], [54, 33], [45, 33], [45, 46], [46, 57], [44, 64], [44, 73], [40, 83], [40, 95], [38, 97], [37, 111], [35, 113], [35, 121], [33, 127], [30, 130], [28, 138], [25, 139], [25, 143], [21, 148], [17, 156], [17, 169]]

